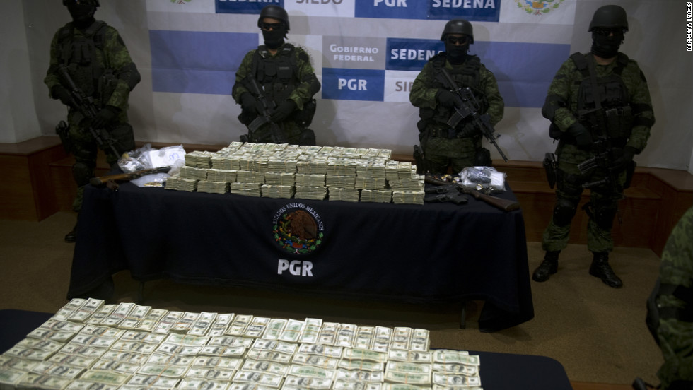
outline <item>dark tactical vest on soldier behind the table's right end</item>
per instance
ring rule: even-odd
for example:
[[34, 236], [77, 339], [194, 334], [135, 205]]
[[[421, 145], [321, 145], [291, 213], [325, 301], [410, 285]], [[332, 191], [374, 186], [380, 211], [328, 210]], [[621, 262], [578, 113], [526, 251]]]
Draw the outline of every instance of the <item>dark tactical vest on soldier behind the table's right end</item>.
[[[441, 73], [441, 69], [445, 67], [445, 52], [436, 54], [431, 58], [431, 65], [433, 66], [433, 73], [437, 76]], [[477, 56], [467, 56], [467, 60], [462, 66], [454, 66], [452, 70], [448, 69], [450, 77], [455, 81], [455, 85], [458, 88], [469, 87], [477, 98], [477, 102], [481, 105], [480, 112], [487, 112], [489, 109], [489, 102], [486, 99], [486, 95], [482, 93], [480, 88], [481, 85], [481, 60]], [[442, 81], [435, 78], [431, 88], [443, 88], [447, 89]], [[419, 117], [421, 119], [433, 119], [435, 122], [448, 122], [450, 116], [454, 113], [452, 108], [442, 107], [438, 105], [436, 109], [431, 108], [421, 108], [419, 109]], [[468, 122], [462, 121], [458, 125], [459, 129], [462, 129]]]

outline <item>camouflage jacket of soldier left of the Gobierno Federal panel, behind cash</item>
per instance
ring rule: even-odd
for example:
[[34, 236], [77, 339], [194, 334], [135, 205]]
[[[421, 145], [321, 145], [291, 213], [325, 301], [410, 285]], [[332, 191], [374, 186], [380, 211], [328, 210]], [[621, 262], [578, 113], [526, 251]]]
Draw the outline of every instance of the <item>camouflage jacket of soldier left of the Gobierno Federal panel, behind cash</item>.
[[[272, 57], [280, 55], [279, 52], [286, 45], [286, 43], [281, 45], [276, 54]], [[243, 85], [243, 81], [246, 77], [251, 76], [252, 59], [255, 57], [255, 52], [256, 50], [250, 50], [250, 52], [245, 54], [243, 61], [241, 61], [240, 66], [238, 66], [238, 71], [235, 73], [235, 84], [233, 85], [231, 95], [238, 104], [240, 104], [240, 96], [243, 95], [243, 93], [250, 92], [250, 90]], [[310, 64], [310, 55], [308, 52], [301, 47], [294, 47], [293, 53], [296, 56], [297, 69], [294, 73], [294, 77], [296, 77], [297, 83], [296, 88], [294, 88], [289, 95], [289, 99], [296, 103], [296, 110], [303, 110], [303, 105], [312, 100], [313, 95], [320, 90], [320, 83], [318, 82], [318, 78], [315, 77], [315, 70], [313, 69], [313, 65]], [[255, 77], [255, 75], [252, 76]], [[279, 102], [276, 103], [279, 104]]]

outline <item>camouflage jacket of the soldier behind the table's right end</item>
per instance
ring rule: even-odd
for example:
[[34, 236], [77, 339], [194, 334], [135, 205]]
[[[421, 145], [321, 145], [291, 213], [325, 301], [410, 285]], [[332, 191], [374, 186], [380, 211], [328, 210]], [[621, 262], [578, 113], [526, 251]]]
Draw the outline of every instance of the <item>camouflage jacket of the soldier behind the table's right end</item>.
[[[461, 67], [462, 65], [450, 64], [450, 61], [445, 61], [445, 69], [452, 71], [456, 67]], [[424, 65], [424, 69], [414, 80], [414, 85], [412, 85], [412, 92], [409, 93], [409, 102], [415, 107], [419, 108], [430, 108], [436, 110], [438, 108], [438, 102], [436, 101], [436, 93], [438, 93], [438, 82], [436, 81], [437, 71], [435, 66], [431, 61]], [[462, 87], [462, 85], [458, 85]], [[498, 90], [498, 82], [496, 81], [496, 76], [494, 73], [489, 71], [484, 64], [481, 64], [479, 69], [479, 90], [484, 94], [489, 103], [489, 109], [487, 110], [489, 116], [491, 117], [491, 125], [496, 125], [503, 119], [503, 109], [505, 103], [503, 102], [503, 97]], [[481, 112], [480, 114], [486, 114], [487, 112]]]

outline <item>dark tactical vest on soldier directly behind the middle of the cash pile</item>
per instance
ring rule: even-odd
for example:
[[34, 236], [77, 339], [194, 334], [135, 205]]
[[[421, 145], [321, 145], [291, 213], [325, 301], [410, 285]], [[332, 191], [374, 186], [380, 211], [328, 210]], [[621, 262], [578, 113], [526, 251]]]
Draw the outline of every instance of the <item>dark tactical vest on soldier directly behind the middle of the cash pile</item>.
[[266, 46], [255, 50], [252, 57], [252, 74], [267, 94], [277, 104], [289, 98], [296, 89], [298, 64], [293, 45], [287, 43], [272, 57]]

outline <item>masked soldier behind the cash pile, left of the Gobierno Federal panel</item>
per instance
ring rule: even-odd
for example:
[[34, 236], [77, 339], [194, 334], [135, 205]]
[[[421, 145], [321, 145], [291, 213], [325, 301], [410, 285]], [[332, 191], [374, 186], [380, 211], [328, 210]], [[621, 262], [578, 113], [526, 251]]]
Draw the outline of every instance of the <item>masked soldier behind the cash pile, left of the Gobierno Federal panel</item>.
[[[284, 42], [289, 31], [289, 15], [280, 6], [266, 6], [260, 11], [257, 27], [262, 29], [264, 45], [245, 54], [235, 74], [231, 95], [240, 104], [241, 123], [250, 125], [264, 107], [279, 134], [273, 134], [271, 124], [241, 136], [242, 141], [315, 145], [315, 133], [308, 129], [315, 114], [313, 95], [320, 90], [310, 55], [301, 47]], [[252, 88], [257, 81], [261, 96]], [[265, 105], [262, 100], [264, 99]]]

